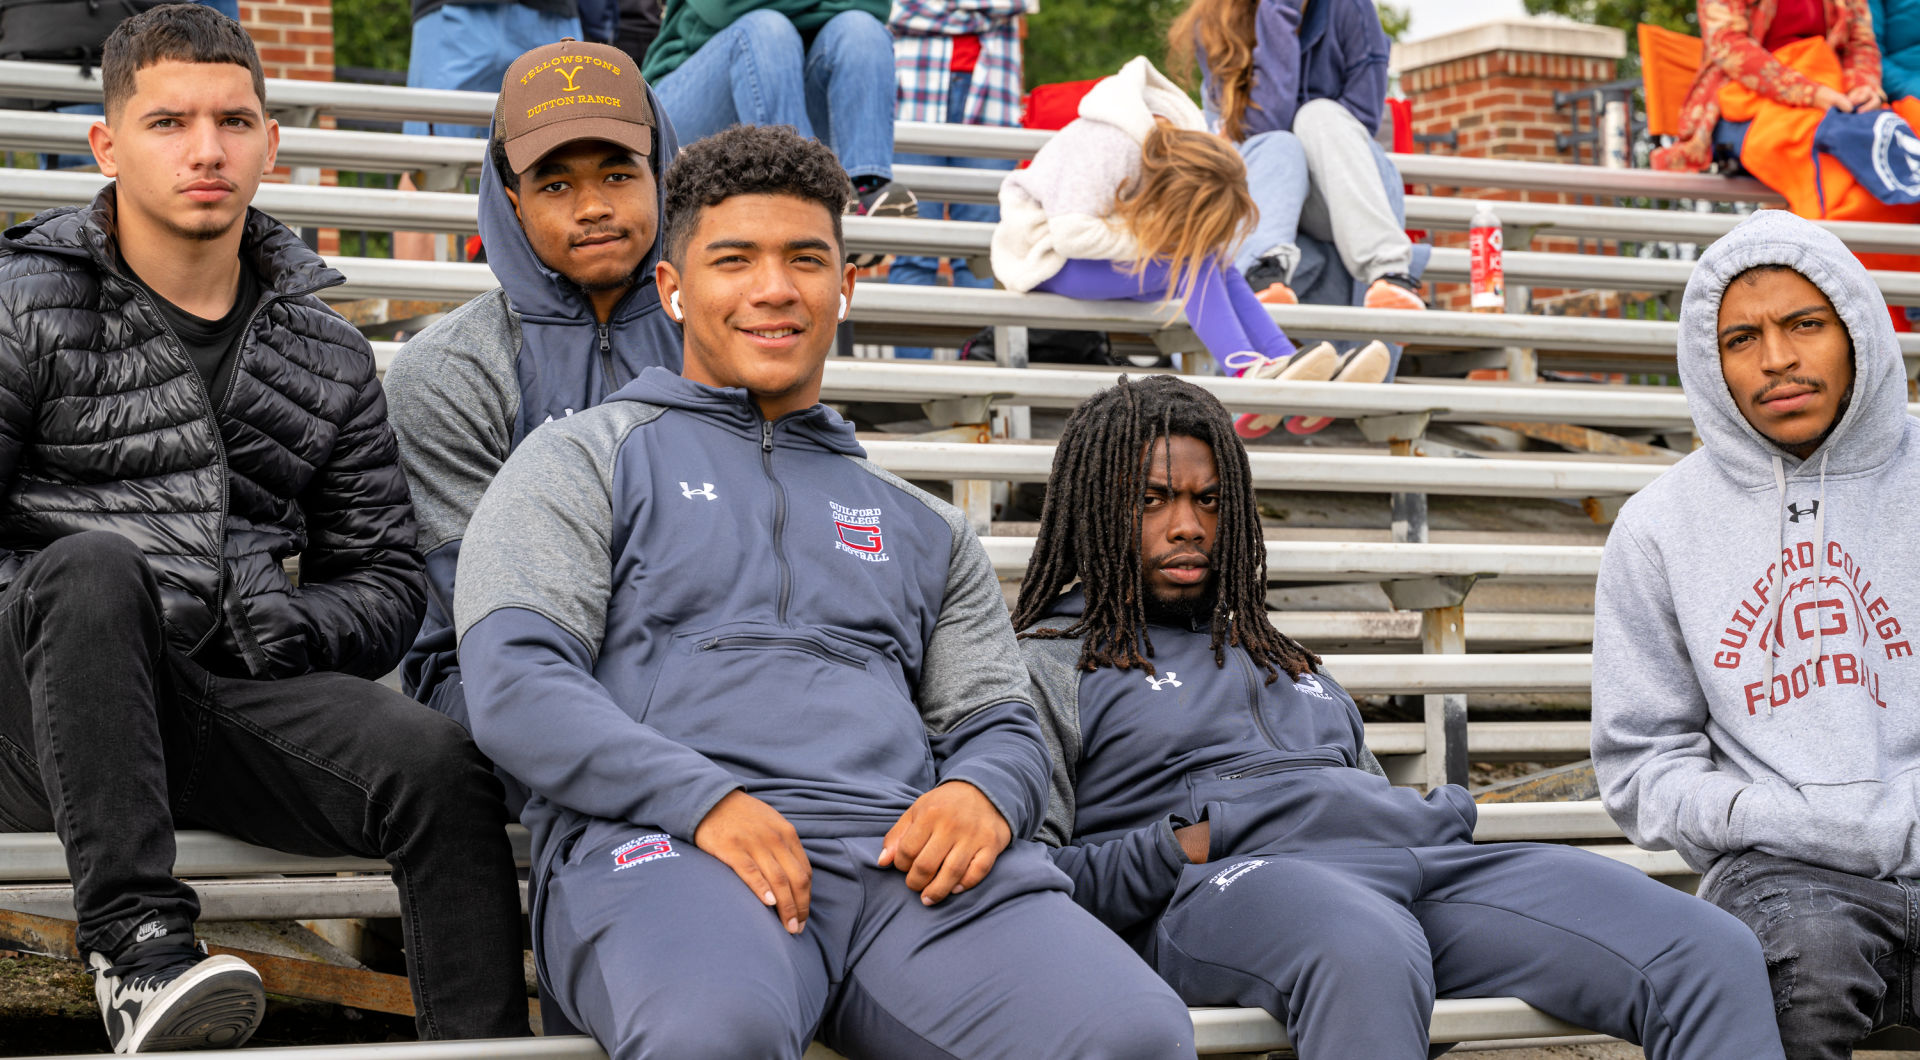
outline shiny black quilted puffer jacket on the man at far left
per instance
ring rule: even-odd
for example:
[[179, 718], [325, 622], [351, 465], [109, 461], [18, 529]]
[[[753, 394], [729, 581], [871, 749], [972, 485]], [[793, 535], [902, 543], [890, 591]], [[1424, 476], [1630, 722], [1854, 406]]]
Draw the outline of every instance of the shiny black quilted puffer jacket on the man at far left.
[[388, 672], [426, 584], [372, 351], [313, 296], [344, 277], [248, 211], [263, 290], [215, 413], [117, 265], [113, 207], [109, 184], [0, 236], [0, 586], [56, 538], [111, 530], [148, 555], [169, 638], [202, 666]]

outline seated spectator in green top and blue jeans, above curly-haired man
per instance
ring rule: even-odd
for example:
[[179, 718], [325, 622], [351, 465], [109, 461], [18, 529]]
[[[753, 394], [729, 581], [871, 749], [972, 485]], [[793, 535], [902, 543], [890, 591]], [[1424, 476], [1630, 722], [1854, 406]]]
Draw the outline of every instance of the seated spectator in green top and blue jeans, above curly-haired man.
[[[849, 213], [912, 217], [893, 179], [889, 0], [678, 0], [647, 48], [647, 81], [689, 142], [728, 125], [791, 125], [833, 148]], [[879, 265], [885, 255], [854, 255]]]

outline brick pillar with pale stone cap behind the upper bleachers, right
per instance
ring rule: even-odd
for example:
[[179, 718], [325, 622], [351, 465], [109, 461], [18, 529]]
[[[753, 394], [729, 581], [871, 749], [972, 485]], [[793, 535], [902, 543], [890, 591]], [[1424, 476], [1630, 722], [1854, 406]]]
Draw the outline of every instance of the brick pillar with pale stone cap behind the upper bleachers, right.
[[[1453, 154], [1515, 161], [1572, 161], [1553, 146], [1569, 131], [1567, 115], [1553, 109], [1553, 92], [1615, 81], [1626, 56], [1626, 33], [1572, 21], [1501, 19], [1442, 36], [1398, 44], [1394, 69], [1400, 90], [1413, 100], [1415, 132], [1455, 132]], [[1446, 148], [1434, 148], [1444, 152]], [[1444, 188], [1434, 196], [1567, 202], [1555, 192], [1500, 188]], [[1498, 211], [1498, 205], [1496, 205]], [[1511, 229], [1509, 229], [1511, 230]], [[1465, 232], [1434, 232], [1436, 246], [1467, 246]], [[1507, 250], [1528, 250], [1509, 236]], [[1530, 250], [1572, 253], [1571, 238], [1536, 238]], [[1436, 309], [1465, 309], [1467, 284], [1430, 284]], [[1561, 292], [1534, 292], [1536, 301]], [[1617, 307], [1584, 315], [1617, 315]]]

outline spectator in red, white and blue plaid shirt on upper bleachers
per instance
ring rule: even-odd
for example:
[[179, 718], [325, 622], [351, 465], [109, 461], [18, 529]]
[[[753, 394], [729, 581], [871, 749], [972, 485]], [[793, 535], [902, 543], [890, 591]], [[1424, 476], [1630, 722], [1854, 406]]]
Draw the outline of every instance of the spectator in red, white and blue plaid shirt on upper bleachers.
[[[900, 121], [1020, 127], [1020, 15], [1027, 0], [900, 0], [893, 6], [893, 65], [900, 84]], [[960, 157], [899, 152], [900, 165], [1012, 169], [1010, 157]], [[1000, 207], [970, 202], [920, 200], [920, 217], [933, 221], [1000, 219]], [[954, 286], [991, 288], [993, 277], [966, 257], [950, 259]], [[933, 286], [939, 257], [897, 253], [889, 284]], [[895, 357], [927, 359], [927, 348], [897, 346]]]

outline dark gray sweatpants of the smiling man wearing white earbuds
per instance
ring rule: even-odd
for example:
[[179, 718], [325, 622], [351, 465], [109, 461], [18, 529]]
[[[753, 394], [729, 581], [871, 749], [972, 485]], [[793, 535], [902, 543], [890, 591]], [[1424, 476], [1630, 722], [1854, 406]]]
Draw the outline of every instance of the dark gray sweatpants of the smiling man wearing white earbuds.
[[[616, 822], [555, 866], [545, 985], [612, 1060], [1194, 1056], [1187, 1006], [1066, 895], [1035, 843], [937, 906], [876, 868], [879, 837], [804, 841], [812, 916], [787, 935], [720, 860]], [[636, 845], [639, 841], [639, 845]]]

